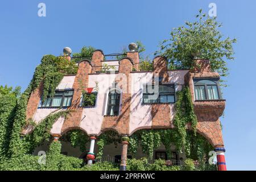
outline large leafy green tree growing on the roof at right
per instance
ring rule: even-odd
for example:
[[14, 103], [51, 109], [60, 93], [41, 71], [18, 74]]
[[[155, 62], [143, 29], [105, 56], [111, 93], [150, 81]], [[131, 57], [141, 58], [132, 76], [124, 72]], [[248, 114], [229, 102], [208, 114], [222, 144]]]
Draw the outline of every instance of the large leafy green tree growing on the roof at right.
[[195, 22], [185, 22], [185, 26], [174, 28], [171, 38], [160, 43], [160, 51], [155, 54], [166, 56], [171, 69], [191, 69], [195, 67], [193, 57], [210, 60], [212, 71], [221, 76], [228, 75], [227, 60], [233, 60], [233, 43], [236, 39], [223, 38], [218, 31], [222, 26], [216, 17], [210, 18], [199, 11]]

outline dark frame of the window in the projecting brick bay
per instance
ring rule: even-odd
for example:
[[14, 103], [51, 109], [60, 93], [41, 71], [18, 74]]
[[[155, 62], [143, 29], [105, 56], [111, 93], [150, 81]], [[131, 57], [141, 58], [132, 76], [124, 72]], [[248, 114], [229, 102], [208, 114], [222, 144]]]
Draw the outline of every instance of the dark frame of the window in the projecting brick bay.
[[[197, 84], [197, 82], [199, 81], [203, 81], [203, 80], [207, 80], [207, 81], [212, 81], [215, 84]], [[196, 86], [204, 86], [204, 90], [205, 90], [205, 97], [206, 99], [197, 99], [196, 98]], [[209, 94], [208, 94], [208, 86], [217, 86], [217, 93], [218, 93], [218, 99], [209, 99]], [[214, 79], [214, 78], [194, 78], [193, 79], [193, 87], [194, 87], [194, 96], [195, 96], [195, 101], [215, 101], [215, 100], [222, 100], [222, 95], [221, 95], [221, 91], [220, 91], [220, 79]], [[201, 97], [201, 94], [200, 94]]]

